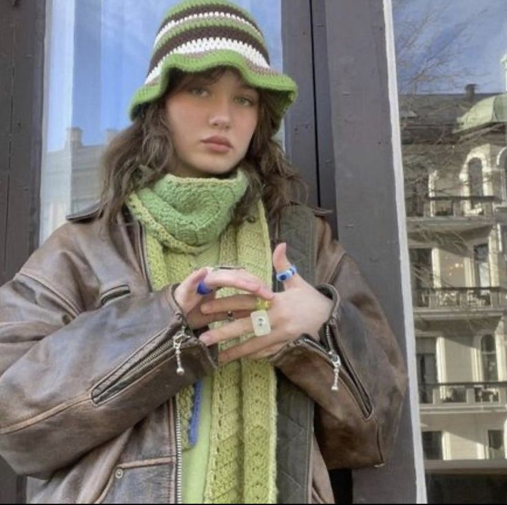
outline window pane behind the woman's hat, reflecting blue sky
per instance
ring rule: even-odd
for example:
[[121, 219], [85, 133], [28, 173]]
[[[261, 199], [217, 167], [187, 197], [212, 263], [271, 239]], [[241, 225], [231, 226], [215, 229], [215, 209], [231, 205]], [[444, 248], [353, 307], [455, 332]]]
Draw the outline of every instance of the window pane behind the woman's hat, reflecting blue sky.
[[[258, 20], [271, 64], [282, 70], [281, 1], [233, 1]], [[66, 214], [99, 197], [101, 153], [129, 125], [127, 107], [145, 79], [156, 31], [176, 3], [48, 0], [41, 243]]]

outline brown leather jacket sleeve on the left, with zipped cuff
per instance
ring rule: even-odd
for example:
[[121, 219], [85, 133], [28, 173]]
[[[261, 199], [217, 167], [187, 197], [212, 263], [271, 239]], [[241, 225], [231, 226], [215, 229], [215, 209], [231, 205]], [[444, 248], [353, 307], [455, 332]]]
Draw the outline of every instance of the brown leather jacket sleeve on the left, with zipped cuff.
[[[43, 270], [51, 254], [48, 240], [0, 287], [0, 455], [43, 478], [216, 368], [185, 325], [176, 285], [81, 312], [79, 296]], [[77, 282], [71, 255], [60, 256], [59, 275]]]

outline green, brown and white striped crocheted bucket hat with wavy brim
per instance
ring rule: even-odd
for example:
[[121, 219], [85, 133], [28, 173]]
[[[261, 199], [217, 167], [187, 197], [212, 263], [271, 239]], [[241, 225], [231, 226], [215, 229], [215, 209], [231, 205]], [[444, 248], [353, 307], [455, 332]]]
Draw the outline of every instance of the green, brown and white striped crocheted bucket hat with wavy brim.
[[186, 0], [166, 12], [147, 77], [130, 102], [130, 119], [164, 95], [173, 68], [200, 72], [216, 66], [236, 68], [250, 86], [273, 93], [278, 130], [298, 88], [271, 68], [267, 43], [251, 14], [226, 0]]

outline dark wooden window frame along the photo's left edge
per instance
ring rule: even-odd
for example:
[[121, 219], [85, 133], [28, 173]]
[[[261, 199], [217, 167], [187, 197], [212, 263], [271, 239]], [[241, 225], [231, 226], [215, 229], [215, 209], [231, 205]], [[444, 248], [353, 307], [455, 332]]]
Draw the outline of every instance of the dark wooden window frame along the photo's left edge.
[[[0, 2], [0, 285], [39, 245], [45, 0]], [[25, 502], [25, 477], [0, 458], [0, 503]]]

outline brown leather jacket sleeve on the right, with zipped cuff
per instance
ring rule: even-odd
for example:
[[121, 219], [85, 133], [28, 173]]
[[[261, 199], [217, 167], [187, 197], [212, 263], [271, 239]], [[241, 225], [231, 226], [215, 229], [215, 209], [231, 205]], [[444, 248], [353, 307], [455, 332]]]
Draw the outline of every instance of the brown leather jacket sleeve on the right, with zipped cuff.
[[357, 264], [329, 224], [315, 219], [315, 288], [333, 299], [333, 310], [320, 344], [302, 335], [271, 362], [315, 401], [315, 435], [328, 468], [381, 466], [394, 444], [408, 382], [402, 353]]

